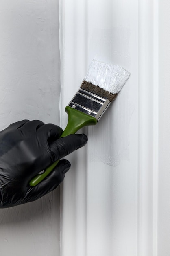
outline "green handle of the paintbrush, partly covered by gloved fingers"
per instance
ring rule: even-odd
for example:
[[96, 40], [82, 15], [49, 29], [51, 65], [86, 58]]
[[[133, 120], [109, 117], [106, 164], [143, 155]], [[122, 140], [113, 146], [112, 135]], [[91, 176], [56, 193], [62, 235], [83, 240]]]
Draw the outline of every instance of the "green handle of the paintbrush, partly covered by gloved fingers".
[[[67, 106], [65, 108], [65, 111], [68, 114], [68, 124], [65, 130], [63, 131], [61, 138], [76, 133], [79, 129], [83, 128], [84, 126], [97, 124], [97, 120], [95, 117], [91, 117], [90, 115], [87, 115], [74, 108]], [[39, 182], [44, 180], [44, 178], [47, 177], [48, 174], [50, 174], [50, 172], [54, 169], [58, 162], [59, 160], [57, 160], [51, 166], [49, 166], [46, 169], [46, 171], [44, 171], [44, 173], [38, 174], [37, 176], [33, 177], [33, 179], [30, 181], [30, 186], [36, 186], [37, 184], [39, 184]]]

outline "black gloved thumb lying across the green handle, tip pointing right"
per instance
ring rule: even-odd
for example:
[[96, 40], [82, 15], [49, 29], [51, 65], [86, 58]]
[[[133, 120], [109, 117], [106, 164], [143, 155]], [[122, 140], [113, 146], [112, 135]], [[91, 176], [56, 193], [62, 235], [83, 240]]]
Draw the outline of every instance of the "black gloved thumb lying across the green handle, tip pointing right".
[[83, 147], [87, 143], [85, 134], [71, 134], [64, 138], [59, 138], [50, 145], [50, 150], [54, 157], [54, 161], [65, 157], [74, 150]]

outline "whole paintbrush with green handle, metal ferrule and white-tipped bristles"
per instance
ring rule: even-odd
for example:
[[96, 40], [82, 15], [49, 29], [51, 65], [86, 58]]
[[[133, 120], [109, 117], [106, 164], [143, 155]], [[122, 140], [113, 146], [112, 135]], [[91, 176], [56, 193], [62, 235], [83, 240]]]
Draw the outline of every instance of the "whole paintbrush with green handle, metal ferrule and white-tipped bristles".
[[[68, 124], [61, 137], [74, 134], [84, 126], [97, 124], [129, 76], [130, 73], [123, 67], [93, 60], [80, 89], [65, 108]], [[44, 180], [58, 162], [59, 160], [49, 166], [44, 173], [35, 176], [30, 186]]]

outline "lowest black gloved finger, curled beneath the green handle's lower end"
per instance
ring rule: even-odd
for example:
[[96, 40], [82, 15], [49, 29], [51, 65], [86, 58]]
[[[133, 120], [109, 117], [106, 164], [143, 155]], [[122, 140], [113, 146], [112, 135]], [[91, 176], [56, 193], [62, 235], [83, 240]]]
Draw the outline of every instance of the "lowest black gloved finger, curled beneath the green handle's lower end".
[[70, 162], [67, 160], [61, 160], [54, 168], [54, 170], [39, 184], [33, 188], [29, 188], [26, 194], [26, 202], [31, 202], [41, 198], [63, 182], [65, 173], [70, 169]]

